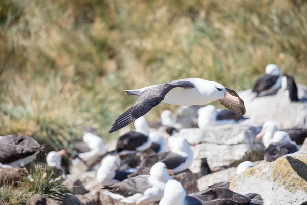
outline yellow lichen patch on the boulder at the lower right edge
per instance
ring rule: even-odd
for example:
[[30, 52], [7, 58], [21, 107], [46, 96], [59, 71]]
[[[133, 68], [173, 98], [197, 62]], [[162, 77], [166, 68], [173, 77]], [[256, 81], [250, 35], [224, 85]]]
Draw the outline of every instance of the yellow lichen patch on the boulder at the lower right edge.
[[272, 169], [273, 180], [289, 192], [307, 192], [307, 153], [277, 159]]

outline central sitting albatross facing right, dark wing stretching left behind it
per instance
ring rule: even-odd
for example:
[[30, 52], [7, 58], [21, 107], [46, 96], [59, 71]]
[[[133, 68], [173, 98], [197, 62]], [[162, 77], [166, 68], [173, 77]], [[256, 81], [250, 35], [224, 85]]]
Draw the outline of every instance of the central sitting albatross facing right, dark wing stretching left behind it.
[[[141, 162], [138, 171], [130, 174], [128, 177], [130, 178], [140, 174], [148, 174], [150, 168], [157, 162], [165, 163], [167, 169], [172, 169], [174, 174], [178, 174], [188, 169], [193, 162], [193, 151], [189, 147], [189, 142], [183, 137], [177, 137], [173, 141], [173, 144], [171, 151], [160, 152], [148, 156]], [[194, 146], [193, 144], [190, 145]]]

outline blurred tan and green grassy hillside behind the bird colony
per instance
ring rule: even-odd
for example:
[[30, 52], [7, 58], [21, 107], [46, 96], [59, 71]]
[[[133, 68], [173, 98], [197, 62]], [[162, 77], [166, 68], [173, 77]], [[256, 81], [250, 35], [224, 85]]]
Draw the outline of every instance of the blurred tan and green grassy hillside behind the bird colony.
[[[290, 0], [2, 0], [0, 135], [105, 141], [123, 90], [199, 77], [237, 91], [269, 63], [307, 77], [307, 3]], [[159, 105], [146, 115], [158, 119]]]

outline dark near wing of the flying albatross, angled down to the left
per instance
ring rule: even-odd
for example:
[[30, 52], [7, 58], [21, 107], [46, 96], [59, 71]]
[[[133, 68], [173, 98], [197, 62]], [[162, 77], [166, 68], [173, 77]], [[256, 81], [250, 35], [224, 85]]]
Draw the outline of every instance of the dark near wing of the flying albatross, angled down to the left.
[[145, 115], [153, 107], [161, 103], [165, 95], [173, 88], [194, 88], [194, 84], [189, 81], [170, 81], [169, 83], [160, 84], [143, 91], [138, 97], [133, 107], [129, 108], [126, 112], [121, 114], [112, 125], [109, 133], [115, 132], [139, 117]]

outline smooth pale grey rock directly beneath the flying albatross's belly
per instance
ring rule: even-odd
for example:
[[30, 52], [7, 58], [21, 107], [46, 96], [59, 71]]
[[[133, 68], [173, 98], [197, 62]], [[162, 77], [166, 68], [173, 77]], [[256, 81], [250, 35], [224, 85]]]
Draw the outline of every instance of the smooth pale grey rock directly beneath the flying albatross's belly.
[[200, 107], [201, 106], [179, 107], [175, 113], [174, 127], [177, 129], [197, 127], [195, 119], [198, 117], [197, 111]]

